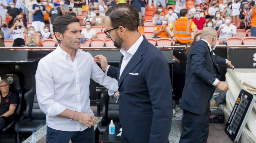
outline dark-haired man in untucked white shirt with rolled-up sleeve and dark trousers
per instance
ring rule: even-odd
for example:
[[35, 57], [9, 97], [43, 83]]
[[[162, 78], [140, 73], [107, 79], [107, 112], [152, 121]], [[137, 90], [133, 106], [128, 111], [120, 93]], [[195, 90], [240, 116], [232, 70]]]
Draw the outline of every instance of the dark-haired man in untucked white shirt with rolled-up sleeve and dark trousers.
[[56, 18], [53, 32], [60, 43], [41, 59], [36, 71], [36, 93], [40, 109], [46, 114], [46, 143], [94, 143], [93, 126], [98, 119], [90, 108], [90, 79], [109, 89], [118, 90], [115, 79], [107, 77], [80, 50], [81, 27], [71, 15]]

